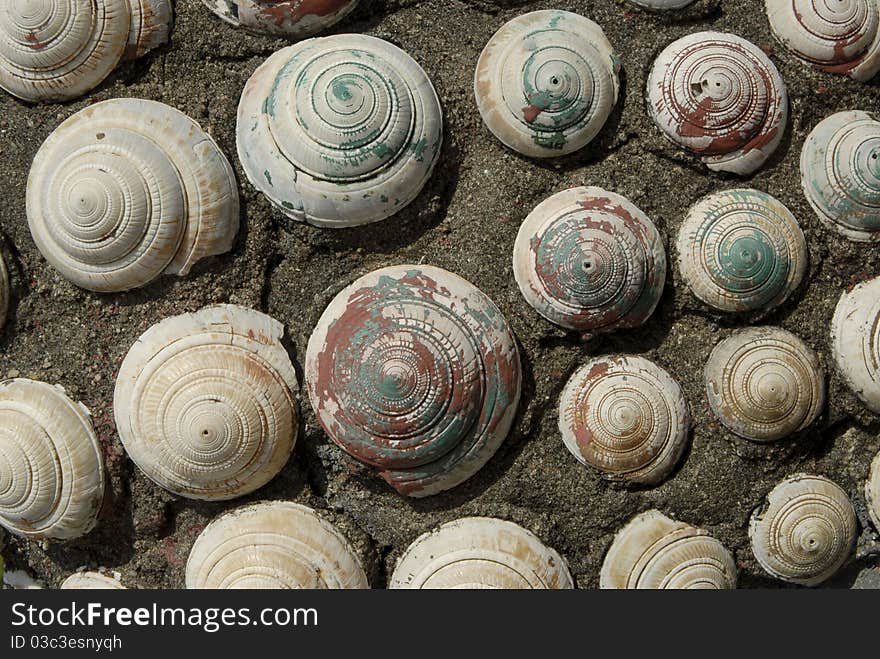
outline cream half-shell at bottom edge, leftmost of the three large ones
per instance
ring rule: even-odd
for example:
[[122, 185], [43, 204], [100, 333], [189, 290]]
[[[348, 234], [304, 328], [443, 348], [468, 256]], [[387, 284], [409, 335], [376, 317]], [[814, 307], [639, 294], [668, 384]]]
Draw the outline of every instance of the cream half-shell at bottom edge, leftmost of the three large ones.
[[314, 510], [269, 501], [208, 524], [186, 562], [191, 589], [369, 588], [360, 559]]

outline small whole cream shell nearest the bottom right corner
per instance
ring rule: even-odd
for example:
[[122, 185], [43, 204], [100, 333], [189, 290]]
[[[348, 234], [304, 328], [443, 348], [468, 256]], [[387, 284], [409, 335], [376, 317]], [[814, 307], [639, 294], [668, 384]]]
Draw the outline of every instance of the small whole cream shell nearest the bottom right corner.
[[752, 553], [768, 574], [815, 586], [836, 573], [856, 543], [856, 513], [838, 485], [797, 474], [779, 483], [752, 514]]

